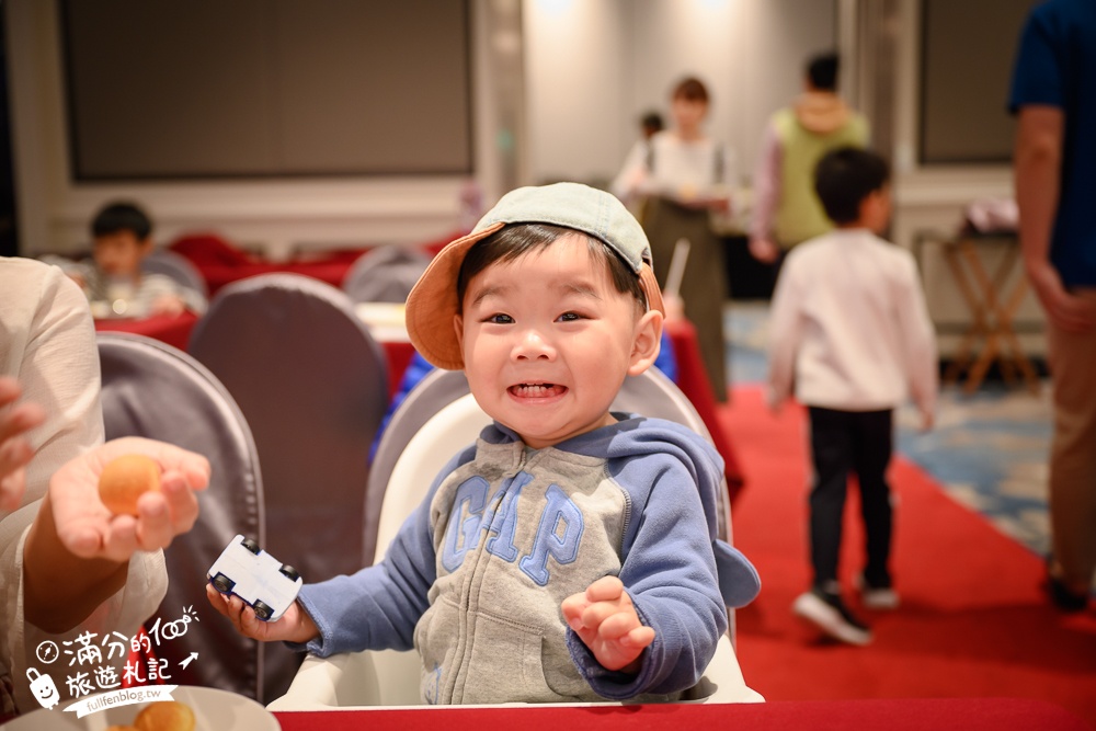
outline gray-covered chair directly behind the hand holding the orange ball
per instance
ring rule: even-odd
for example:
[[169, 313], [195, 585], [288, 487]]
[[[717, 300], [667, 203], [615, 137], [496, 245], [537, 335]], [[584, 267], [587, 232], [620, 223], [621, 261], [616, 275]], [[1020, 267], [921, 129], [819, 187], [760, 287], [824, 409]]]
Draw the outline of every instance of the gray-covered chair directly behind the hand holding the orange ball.
[[[205, 594], [206, 570], [235, 535], [260, 545], [266, 537], [263, 479], [248, 422], [217, 377], [186, 353], [126, 333], [101, 332], [96, 342], [106, 437], [169, 442], [204, 455], [212, 467], [209, 487], [198, 493], [197, 522], [164, 550], [168, 593], [146, 627], [184, 614], [201, 624], [153, 651], [169, 661], [173, 683], [224, 688], [262, 701], [265, 646], [232, 629]], [[180, 665], [192, 652], [198, 660]]]

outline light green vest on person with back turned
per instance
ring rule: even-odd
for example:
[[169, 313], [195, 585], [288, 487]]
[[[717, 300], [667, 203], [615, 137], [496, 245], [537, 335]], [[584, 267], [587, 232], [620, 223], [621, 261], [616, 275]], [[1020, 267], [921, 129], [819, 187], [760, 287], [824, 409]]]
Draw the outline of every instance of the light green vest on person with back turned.
[[864, 116], [854, 112], [840, 129], [818, 135], [799, 124], [791, 107], [777, 112], [773, 124], [783, 150], [780, 199], [774, 228], [777, 243], [790, 249], [833, 228], [814, 193], [814, 165], [834, 148], [864, 147], [868, 127]]

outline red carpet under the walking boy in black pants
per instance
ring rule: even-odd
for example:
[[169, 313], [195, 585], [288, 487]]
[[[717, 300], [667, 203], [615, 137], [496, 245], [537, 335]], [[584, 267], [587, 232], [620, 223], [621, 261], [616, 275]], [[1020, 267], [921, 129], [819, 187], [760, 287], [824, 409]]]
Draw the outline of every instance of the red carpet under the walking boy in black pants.
[[806, 420], [774, 416], [758, 387], [737, 388], [721, 419], [745, 475], [734, 542], [762, 576], [761, 596], [738, 613], [746, 682], [769, 700], [1016, 697], [1058, 704], [1096, 727], [1096, 616], [1053, 610], [1039, 590], [1041, 560], [950, 500], [898, 458], [892, 571], [902, 607], [861, 610], [850, 576], [863, 533], [847, 505], [842, 583], [875, 641], [823, 641], [791, 602], [809, 582]]

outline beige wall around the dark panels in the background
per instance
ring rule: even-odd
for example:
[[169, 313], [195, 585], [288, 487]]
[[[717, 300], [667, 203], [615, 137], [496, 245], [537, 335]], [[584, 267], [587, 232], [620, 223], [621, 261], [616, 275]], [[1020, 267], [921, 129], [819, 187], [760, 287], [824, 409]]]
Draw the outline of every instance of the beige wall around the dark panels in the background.
[[[475, 0], [476, 175], [486, 202], [492, 203], [511, 181], [610, 178], [636, 139], [637, 115], [664, 104], [667, 89], [685, 72], [709, 81], [715, 101], [709, 132], [737, 149], [740, 169], [749, 176], [765, 119], [799, 90], [803, 56], [840, 37], [850, 61], [843, 76], [855, 80], [846, 90], [854, 99], [868, 93], [863, 87], [872, 69], [854, 68], [858, 49], [853, 28], [858, 9], [874, 1]], [[971, 201], [1011, 196], [1012, 182], [1003, 164], [916, 163], [921, 2], [893, 1], [897, 22], [879, 32], [897, 38], [895, 71], [892, 79], [877, 82], [893, 84], [892, 233], [910, 247], [922, 231], [954, 231]], [[981, 2], [986, 12], [994, 2], [964, 1]], [[520, 9], [520, 25], [489, 16], [491, 9], [498, 13], [506, 8], [511, 14]], [[161, 241], [214, 229], [275, 256], [309, 247], [433, 240], [458, 226], [465, 181], [456, 176], [73, 184], [56, 3], [9, 0], [3, 10], [26, 254], [81, 245], [89, 217], [117, 196], [148, 205]], [[518, 27], [524, 32], [517, 33]], [[515, 148], [505, 155], [500, 151], [501, 128], [515, 133]], [[938, 256], [928, 254], [924, 276], [935, 317], [968, 317]], [[1029, 300], [1021, 316], [1038, 320], [1040, 313]], [[1041, 338], [1031, 341], [1039, 352]], [[945, 352], [954, 344], [954, 338], [941, 339]]]

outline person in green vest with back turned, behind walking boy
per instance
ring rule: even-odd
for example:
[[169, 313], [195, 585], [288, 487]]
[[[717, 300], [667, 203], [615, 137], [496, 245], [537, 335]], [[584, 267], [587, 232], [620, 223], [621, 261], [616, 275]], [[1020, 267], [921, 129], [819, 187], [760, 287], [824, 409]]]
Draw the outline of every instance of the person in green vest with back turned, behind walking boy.
[[837, 95], [838, 58], [812, 57], [804, 93], [769, 119], [754, 174], [750, 253], [779, 263], [788, 249], [833, 228], [814, 193], [814, 165], [838, 147], [866, 147], [868, 123]]

